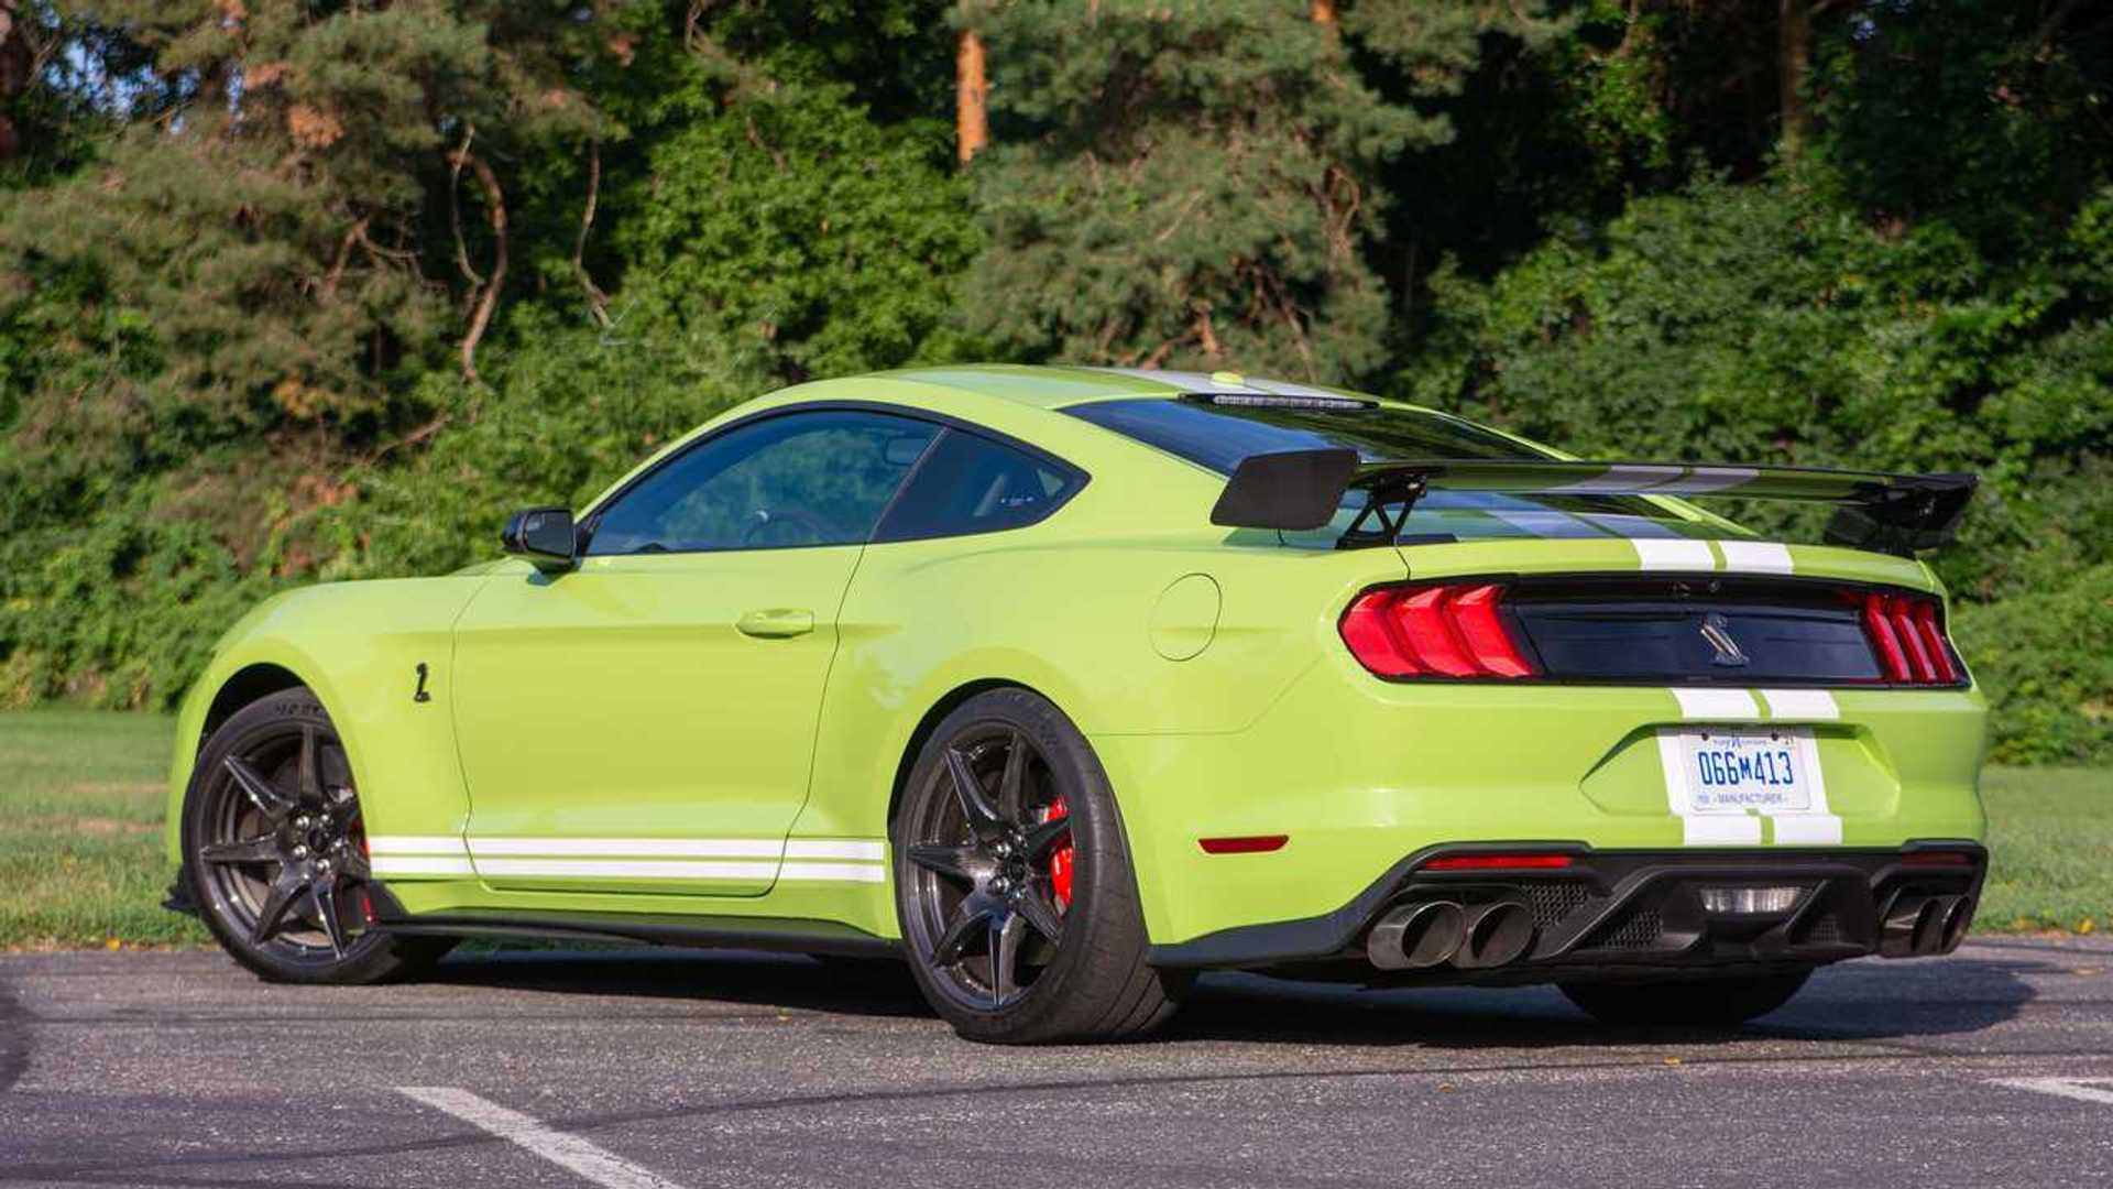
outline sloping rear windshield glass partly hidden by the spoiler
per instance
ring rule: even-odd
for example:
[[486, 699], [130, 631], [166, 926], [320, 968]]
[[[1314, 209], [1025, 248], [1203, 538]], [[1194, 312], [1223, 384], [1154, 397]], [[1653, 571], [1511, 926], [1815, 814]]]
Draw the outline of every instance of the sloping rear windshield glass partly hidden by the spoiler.
[[[1207, 398], [1141, 398], [1073, 404], [1065, 413], [1228, 476], [1249, 455], [1342, 446], [1357, 451], [1363, 461], [1549, 457], [1471, 421], [1350, 400], [1312, 408], [1291, 402], [1217, 404]], [[1348, 493], [1325, 533], [1340, 535], [1363, 506], [1363, 493]], [[1648, 499], [1625, 495], [1485, 491], [1431, 491], [1416, 501], [1401, 529], [1403, 542], [1695, 535], [1735, 533], [1682, 520]]]

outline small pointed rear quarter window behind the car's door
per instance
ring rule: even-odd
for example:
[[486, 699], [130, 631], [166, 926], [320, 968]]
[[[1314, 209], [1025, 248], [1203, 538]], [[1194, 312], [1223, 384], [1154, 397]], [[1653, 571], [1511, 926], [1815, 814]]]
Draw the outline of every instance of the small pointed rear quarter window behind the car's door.
[[1018, 529], [1048, 516], [1086, 476], [976, 434], [947, 429], [873, 539], [911, 542]]

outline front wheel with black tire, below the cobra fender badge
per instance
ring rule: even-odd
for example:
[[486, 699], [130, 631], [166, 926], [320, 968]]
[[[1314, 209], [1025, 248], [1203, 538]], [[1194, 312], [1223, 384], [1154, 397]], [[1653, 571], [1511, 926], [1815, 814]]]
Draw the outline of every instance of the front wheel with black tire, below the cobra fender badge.
[[399, 980], [454, 946], [366, 927], [361, 838], [344, 747], [308, 690], [249, 702], [199, 751], [184, 793], [184, 878], [220, 946], [260, 977]]

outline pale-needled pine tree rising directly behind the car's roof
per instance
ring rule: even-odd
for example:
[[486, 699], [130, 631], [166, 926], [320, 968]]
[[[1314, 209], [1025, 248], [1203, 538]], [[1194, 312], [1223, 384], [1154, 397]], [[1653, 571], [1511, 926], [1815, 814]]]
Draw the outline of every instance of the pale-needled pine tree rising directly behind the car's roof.
[[[1515, 15], [1526, 13], [1526, 17]], [[964, 317], [1002, 353], [1369, 377], [1382, 165], [1443, 144], [1416, 97], [1538, 8], [1458, 0], [972, 4], [995, 142], [970, 173], [989, 248]], [[1384, 99], [1359, 55], [1399, 70]]]

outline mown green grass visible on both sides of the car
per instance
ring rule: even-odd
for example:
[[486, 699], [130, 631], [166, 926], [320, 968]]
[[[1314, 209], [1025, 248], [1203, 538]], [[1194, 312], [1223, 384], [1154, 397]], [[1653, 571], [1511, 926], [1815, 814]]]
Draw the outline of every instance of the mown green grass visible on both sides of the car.
[[[0, 946], [186, 946], [207, 939], [161, 908], [158, 715], [0, 713]], [[1995, 870], [1976, 929], [2113, 927], [2113, 772], [1990, 768]]]

